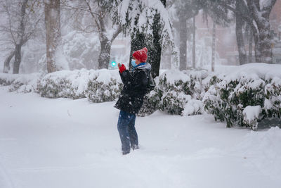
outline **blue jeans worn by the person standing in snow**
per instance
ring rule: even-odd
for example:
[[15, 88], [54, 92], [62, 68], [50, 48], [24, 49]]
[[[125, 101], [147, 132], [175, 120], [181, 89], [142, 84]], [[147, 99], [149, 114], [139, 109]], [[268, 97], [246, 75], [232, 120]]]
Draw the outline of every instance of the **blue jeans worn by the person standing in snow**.
[[138, 147], [138, 134], [135, 128], [136, 114], [120, 111], [118, 119], [118, 132], [122, 144], [122, 152], [130, 152], [130, 144], [132, 149]]

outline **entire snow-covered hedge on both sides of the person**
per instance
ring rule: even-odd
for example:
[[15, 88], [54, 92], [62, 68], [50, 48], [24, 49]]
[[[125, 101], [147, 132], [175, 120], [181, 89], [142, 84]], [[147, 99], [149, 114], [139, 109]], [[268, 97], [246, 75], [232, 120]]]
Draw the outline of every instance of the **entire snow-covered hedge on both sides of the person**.
[[[205, 70], [166, 70], [145, 96], [138, 115], [156, 110], [177, 115], [213, 114], [227, 127], [241, 125], [256, 130], [263, 119], [281, 116], [281, 65], [251, 63], [224, 74]], [[40, 75], [0, 74], [0, 84], [10, 91], [38, 92], [49, 98], [114, 101], [123, 87], [117, 70], [63, 70]]]

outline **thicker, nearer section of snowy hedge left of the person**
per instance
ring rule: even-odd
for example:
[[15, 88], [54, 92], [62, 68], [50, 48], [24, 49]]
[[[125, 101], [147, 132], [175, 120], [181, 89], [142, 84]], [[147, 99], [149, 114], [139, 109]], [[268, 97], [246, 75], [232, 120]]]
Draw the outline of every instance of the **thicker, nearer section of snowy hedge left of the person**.
[[50, 73], [37, 83], [41, 96], [65, 97], [89, 101], [113, 101], [120, 93], [121, 80], [117, 70], [62, 70]]

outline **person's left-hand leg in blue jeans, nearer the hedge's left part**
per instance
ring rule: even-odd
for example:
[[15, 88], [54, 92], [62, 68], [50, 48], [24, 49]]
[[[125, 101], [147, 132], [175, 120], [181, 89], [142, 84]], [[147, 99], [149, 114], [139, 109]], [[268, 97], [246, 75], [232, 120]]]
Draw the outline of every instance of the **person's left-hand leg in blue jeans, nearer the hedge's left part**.
[[129, 139], [128, 126], [129, 126], [129, 114], [124, 111], [120, 111], [117, 128], [122, 144], [123, 154], [130, 153], [130, 139]]

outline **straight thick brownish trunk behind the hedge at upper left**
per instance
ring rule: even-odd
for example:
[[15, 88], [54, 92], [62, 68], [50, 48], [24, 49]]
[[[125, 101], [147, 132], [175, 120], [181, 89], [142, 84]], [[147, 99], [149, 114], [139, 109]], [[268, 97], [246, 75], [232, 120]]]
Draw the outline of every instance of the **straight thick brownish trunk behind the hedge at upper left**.
[[60, 44], [60, 0], [44, 1], [46, 27], [46, 58], [48, 73], [57, 70], [55, 51]]

